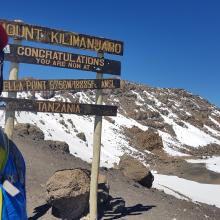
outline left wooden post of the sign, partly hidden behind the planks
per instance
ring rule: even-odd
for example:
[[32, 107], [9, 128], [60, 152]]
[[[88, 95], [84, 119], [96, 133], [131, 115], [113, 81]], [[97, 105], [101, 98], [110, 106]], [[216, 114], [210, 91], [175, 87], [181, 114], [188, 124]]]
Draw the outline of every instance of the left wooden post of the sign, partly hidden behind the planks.
[[[16, 22], [21, 22], [20, 20], [15, 20]], [[18, 36], [14, 38], [14, 44], [21, 45], [21, 38]], [[18, 71], [19, 64], [11, 63], [10, 72], [9, 72], [9, 80], [17, 80], [18, 79]], [[8, 97], [16, 98], [17, 92], [8, 92]], [[15, 112], [14, 111], [6, 111], [5, 112], [5, 133], [8, 138], [12, 140], [13, 130], [14, 130], [14, 120], [15, 120]]]

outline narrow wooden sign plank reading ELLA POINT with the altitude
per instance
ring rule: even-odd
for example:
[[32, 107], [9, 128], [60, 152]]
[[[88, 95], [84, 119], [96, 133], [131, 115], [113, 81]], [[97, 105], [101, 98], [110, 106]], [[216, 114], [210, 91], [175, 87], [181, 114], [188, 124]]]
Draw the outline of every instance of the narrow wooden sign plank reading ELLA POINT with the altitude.
[[4, 92], [120, 88], [120, 79], [4, 80]]

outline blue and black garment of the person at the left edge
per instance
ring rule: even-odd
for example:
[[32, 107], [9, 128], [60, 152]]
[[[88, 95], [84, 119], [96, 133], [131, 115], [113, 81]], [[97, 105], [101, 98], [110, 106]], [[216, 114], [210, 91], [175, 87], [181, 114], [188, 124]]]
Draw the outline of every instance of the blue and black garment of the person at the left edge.
[[[27, 220], [25, 191], [25, 162], [17, 146], [0, 130], [0, 145], [4, 145], [6, 159], [0, 170], [0, 220]], [[11, 196], [3, 187], [9, 181], [19, 193]]]

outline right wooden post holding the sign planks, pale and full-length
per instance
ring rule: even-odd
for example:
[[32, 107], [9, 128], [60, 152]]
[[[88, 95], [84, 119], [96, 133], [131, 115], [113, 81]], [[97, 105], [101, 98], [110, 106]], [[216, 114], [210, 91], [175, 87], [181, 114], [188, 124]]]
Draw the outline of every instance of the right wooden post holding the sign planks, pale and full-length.
[[[99, 58], [104, 58], [104, 53], [98, 53]], [[103, 74], [97, 73], [96, 79], [102, 79]], [[96, 91], [96, 104], [102, 104], [102, 90]], [[95, 116], [94, 134], [93, 134], [93, 158], [92, 158], [92, 173], [90, 183], [90, 220], [98, 219], [97, 197], [98, 197], [98, 176], [100, 166], [101, 153], [101, 134], [102, 134], [102, 116]]]

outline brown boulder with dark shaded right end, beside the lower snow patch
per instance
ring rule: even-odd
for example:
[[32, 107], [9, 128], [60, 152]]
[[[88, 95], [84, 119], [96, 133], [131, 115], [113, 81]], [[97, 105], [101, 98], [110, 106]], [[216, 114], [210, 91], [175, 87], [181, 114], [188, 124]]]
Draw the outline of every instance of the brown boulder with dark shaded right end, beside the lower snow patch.
[[147, 188], [151, 188], [154, 177], [149, 168], [144, 166], [137, 159], [124, 154], [120, 158], [119, 169], [122, 171], [124, 176], [129, 179], [134, 180]]

